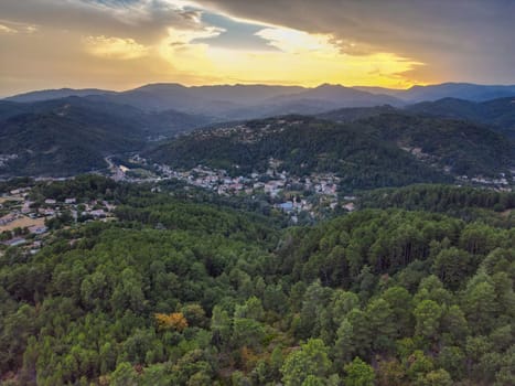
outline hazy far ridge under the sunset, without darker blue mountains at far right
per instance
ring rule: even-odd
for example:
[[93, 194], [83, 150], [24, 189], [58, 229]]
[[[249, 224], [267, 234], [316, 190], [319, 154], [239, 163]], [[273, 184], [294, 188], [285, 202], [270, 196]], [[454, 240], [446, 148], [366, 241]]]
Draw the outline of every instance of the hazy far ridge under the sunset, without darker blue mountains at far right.
[[193, 115], [206, 115], [218, 120], [264, 118], [286, 114], [319, 114], [330, 109], [390, 104], [400, 99], [375, 95], [351, 87], [321, 85], [314, 88], [267, 85], [192, 86], [150, 84], [115, 93], [104, 90], [43, 90], [7, 98], [10, 101], [49, 100], [81, 95], [97, 101], [130, 105], [146, 111], [174, 109]]

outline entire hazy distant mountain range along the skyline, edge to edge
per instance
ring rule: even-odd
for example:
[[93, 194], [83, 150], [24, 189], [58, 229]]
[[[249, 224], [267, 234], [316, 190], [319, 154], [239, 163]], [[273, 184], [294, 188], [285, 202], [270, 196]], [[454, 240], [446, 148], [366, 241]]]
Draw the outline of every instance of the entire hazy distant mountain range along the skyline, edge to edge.
[[344, 87], [320, 85], [299, 86], [221, 85], [193, 86], [150, 84], [127, 92], [103, 89], [51, 89], [25, 93], [6, 98], [9, 101], [33, 103], [68, 96], [130, 105], [142, 110], [180, 110], [216, 117], [218, 120], [250, 119], [278, 114], [319, 114], [344, 107], [390, 105], [400, 107], [419, 101], [458, 98], [485, 101], [515, 97], [514, 86], [489, 86], [466, 83], [444, 83], [414, 86], [409, 89], [382, 87]]

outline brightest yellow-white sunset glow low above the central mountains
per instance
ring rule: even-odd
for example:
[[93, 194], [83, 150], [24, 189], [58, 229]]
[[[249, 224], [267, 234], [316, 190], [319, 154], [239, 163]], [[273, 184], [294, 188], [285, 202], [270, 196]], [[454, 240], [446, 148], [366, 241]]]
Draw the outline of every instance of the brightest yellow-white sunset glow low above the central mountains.
[[169, 36], [160, 43], [159, 53], [174, 72], [194, 73], [197, 81], [191, 85], [260, 83], [312, 87], [333, 83], [405, 88], [415, 82], [404, 77], [403, 73], [422, 65], [393, 53], [345, 54], [331, 35], [282, 28], [267, 28], [257, 33], [277, 51], [229, 50], [194, 42], [218, 33], [216, 29], [169, 29]]

